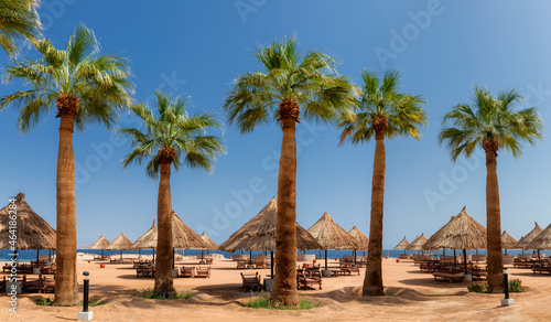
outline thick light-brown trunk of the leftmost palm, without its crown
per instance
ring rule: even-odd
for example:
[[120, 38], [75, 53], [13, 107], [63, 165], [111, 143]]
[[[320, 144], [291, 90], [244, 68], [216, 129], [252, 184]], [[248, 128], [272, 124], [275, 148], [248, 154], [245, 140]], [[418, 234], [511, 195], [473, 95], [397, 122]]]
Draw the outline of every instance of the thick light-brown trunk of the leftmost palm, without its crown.
[[56, 267], [55, 298], [61, 307], [78, 304], [76, 283], [76, 205], [75, 159], [73, 154], [74, 118], [61, 116], [56, 182]]

